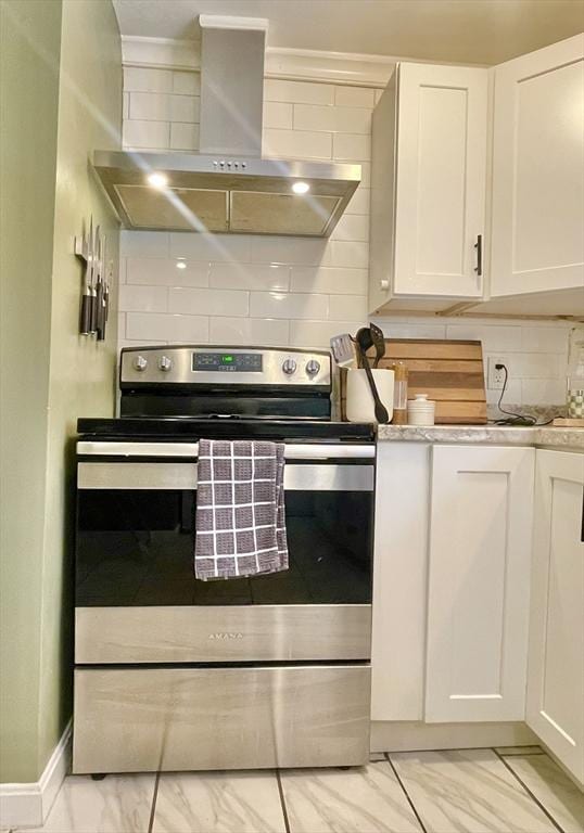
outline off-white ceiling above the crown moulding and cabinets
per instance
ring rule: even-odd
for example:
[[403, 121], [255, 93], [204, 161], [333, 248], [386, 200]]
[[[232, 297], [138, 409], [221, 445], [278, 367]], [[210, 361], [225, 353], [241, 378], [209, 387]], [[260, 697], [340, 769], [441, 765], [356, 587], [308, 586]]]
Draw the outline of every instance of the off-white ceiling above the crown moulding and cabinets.
[[268, 46], [494, 64], [584, 30], [584, 0], [114, 0], [123, 35], [198, 38], [201, 13], [269, 20]]

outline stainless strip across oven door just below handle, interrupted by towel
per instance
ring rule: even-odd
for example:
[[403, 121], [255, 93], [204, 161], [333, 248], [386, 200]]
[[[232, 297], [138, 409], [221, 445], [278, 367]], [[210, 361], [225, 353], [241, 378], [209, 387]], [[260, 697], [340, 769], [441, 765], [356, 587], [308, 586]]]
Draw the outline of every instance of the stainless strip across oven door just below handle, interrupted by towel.
[[[77, 465], [77, 488], [126, 490], [194, 490], [196, 463], [88, 462]], [[287, 491], [372, 491], [374, 465], [287, 464]]]

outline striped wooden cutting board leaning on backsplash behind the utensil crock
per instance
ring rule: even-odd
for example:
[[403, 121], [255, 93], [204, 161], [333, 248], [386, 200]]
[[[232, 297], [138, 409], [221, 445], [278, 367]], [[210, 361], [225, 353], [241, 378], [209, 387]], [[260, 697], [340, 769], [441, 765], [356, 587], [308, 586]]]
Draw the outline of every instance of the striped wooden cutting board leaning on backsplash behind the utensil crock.
[[[369, 351], [374, 355], [374, 351]], [[408, 369], [408, 399], [428, 394], [436, 403], [436, 424], [477, 425], [486, 422], [483, 348], [481, 342], [434, 338], [386, 338], [380, 368], [403, 361]], [[344, 419], [346, 371], [341, 373]]]

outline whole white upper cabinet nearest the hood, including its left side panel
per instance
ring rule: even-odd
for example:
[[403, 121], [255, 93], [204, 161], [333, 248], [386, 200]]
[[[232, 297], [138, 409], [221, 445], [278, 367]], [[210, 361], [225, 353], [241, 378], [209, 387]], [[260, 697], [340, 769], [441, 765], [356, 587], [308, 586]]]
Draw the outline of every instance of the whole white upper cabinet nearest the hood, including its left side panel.
[[482, 298], [486, 133], [486, 69], [399, 65], [373, 114], [370, 311]]

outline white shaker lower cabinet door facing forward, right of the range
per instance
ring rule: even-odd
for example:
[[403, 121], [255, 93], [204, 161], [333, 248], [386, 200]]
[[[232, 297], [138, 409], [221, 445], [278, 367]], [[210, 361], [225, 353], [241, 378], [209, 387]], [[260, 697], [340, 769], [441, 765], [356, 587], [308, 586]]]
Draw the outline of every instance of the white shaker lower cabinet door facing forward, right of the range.
[[435, 446], [426, 720], [523, 720], [532, 448]]

